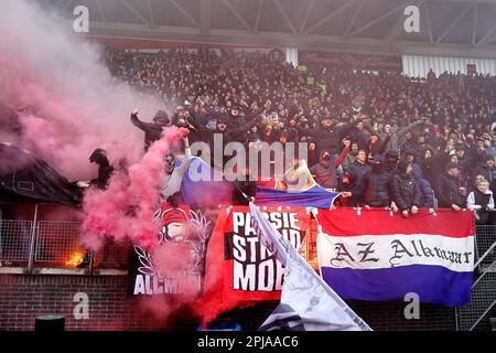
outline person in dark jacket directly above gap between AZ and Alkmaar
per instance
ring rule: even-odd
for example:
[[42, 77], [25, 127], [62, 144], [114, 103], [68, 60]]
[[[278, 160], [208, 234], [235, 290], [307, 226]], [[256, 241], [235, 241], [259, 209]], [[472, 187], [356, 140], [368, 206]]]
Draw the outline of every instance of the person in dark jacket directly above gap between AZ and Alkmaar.
[[376, 154], [368, 159], [371, 168], [360, 180], [362, 201], [371, 207], [388, 207], [391, 205], [391, 176], [384, 170], [382, 156]]

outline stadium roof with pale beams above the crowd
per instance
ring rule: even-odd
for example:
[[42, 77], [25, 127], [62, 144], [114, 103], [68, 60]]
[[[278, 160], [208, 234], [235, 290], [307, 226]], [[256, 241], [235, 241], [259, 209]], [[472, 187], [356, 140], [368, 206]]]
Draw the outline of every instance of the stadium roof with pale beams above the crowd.
[[[496, 56], [496, 0], [36, 1], [67, 17], [87, 6], [90, 36]], [[420, 9], [420, 33], [403, 30], [403, 9], [411, 4]]]

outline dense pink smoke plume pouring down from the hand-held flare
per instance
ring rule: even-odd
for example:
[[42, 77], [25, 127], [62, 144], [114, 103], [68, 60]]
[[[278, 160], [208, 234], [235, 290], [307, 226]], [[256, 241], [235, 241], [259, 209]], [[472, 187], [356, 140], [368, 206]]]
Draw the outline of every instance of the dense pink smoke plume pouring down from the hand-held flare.
[[148, 250], [157, 244], [153, 214], [160, 206], [160, 174], [171, 146], [187, 133], [171, 127], [128, 172], [117, 171], [106, 190], [88, 190], [84, 199], [84, 243], [99, 249], [105, 238], [131, 240]]

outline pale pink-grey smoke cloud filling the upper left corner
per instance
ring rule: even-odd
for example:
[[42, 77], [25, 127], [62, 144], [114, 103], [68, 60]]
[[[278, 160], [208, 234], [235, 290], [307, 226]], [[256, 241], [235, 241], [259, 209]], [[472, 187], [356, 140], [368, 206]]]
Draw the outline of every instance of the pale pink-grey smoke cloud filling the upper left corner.
[[33, 151], [64, 176], [87, 179], [96, 147], [111, 161], [136, 161], [142, 136], [129, 121], [159, 103], [114, 78], [101, 50], [74, 35], [72, 23], [24, 0], [0, 1], [0, 111], [20, 115], [21, 135], [1, 117], [0, 137]]

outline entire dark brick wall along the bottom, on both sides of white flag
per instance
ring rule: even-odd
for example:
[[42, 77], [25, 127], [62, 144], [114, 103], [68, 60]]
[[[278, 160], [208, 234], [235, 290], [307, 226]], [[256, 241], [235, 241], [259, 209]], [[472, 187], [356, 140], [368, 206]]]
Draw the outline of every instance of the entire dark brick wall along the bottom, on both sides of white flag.
[[[194, 330], [196, 323], [164, 324], [140, 310], [137, 299], [127, 298], [126, 276], [0, 275], [0, 331], [34, 330], [37, 315], [56, 313], [66, 318], [66, 330]], [[76, 292], [89, 297], [89, 319], [75, 320]], [[230, 317], [244, 330], [256, 330], [277, 306], [263, 302]], [[454, 309], [421, 304], [420, 320], [406, 320], [403, 302], [362, 302], [349, 306], [375, 330], [455, 330]], [[183, 317], [179, 314], [179, 317]]]

